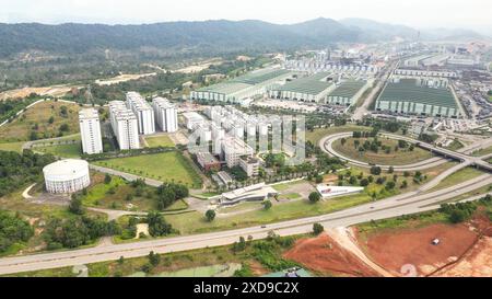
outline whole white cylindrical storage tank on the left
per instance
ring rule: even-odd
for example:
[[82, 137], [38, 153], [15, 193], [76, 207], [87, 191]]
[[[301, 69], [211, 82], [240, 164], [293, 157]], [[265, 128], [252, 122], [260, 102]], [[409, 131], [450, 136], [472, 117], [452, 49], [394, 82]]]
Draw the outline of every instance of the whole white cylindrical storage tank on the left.
[[89, 163], [84, 160], [60, 160], [43, 169], [46, 191], [49, 193], [74, 193], [91, 184]]

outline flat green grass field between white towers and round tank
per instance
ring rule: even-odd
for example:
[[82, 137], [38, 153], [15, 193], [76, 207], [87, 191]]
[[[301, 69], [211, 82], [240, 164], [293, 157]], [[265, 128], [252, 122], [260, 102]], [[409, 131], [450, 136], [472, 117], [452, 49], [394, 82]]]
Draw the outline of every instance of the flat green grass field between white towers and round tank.
[[200, 176], [188, 161], [176, 151], [97, 161], [99, 166], [110, 168], [163, 182], [175, 182], [200, 187]]

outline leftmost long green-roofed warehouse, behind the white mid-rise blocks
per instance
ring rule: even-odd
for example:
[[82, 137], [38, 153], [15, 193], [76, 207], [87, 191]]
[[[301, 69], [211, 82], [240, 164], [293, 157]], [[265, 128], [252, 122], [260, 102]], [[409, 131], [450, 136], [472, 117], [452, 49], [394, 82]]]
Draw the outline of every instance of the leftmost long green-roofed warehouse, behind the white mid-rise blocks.
[[204, 87], [190, 93], [191, 100], [241, 103], [243, 100], [263, 94], [272, 84], [292, 77], [284, 69], [270, 68], [251, 71], [223, 83]]

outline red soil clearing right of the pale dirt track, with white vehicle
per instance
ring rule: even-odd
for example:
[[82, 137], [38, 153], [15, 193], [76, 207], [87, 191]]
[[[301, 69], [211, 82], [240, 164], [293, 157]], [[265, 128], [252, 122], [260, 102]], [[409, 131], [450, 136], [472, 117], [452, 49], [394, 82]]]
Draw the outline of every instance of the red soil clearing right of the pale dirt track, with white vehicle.
[[[440, 244], [433, 245], [433, 239]], [[432, 225], [424, 228], [370, 234], [365, 242], [368, 256], [395, 275], [413, 265], [417, 275], [429, 275], [455, 262], [477, 241], [476, 229], [467, 225]]]

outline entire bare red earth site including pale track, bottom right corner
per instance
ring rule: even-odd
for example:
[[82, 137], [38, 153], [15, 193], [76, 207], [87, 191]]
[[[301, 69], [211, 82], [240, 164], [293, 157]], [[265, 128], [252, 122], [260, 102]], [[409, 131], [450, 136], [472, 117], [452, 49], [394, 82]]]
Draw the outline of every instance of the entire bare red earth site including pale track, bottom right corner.
[[[437, 245], [432, 244], [435, 238]], [[492, 226], [487, 217], [477, 217], [468, 223], [393, 229], [364, 238], [353, 229], [329, 229], [298, 240], [284, 257], [325, 276], [491, 277]]]

